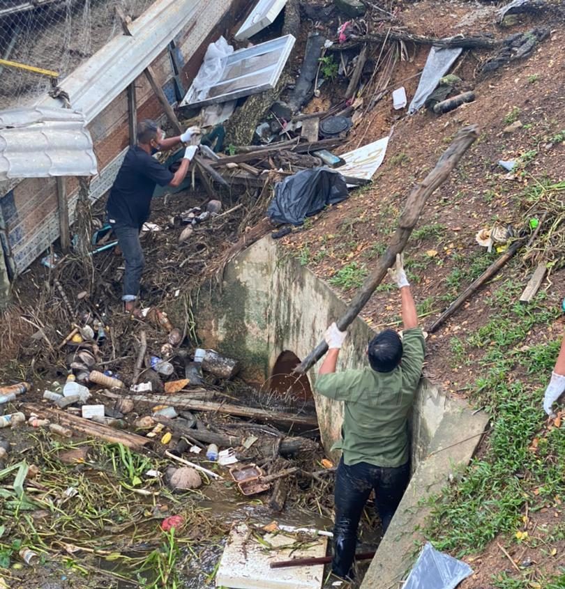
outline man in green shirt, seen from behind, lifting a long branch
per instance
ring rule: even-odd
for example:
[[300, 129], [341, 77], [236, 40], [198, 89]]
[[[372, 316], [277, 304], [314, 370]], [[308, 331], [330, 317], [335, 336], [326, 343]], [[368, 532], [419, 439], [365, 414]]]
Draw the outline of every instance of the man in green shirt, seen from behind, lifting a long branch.
[[320, 395], [344, 401], [342, 438], [334, 445], [342, 457], [336, 474], [332, 563], [333, 573], [343, 578], [352, 578], [357, 526], [370, 492], [375, 490], [384, 532], [410, 475], [407, 417], [425, 343], [400, 256], [389, 275], [400, 289], [402, 339], [391, 329], [380, 332], [369, 342], [368, 367], [336, 373], [346, 334], [332, 323], [326, 331], [329, 350], [316, 378]]

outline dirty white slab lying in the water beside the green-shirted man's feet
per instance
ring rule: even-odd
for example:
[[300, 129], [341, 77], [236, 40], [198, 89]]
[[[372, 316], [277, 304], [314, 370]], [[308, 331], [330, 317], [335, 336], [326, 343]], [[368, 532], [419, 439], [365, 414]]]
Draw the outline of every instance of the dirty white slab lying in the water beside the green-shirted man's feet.
[[[234, 526], [229, 533], [216, 574], [216, 586], [232, 589], [320, 589], [324, 565], [271, 569], [270, 563], [290, 558], [326, 556], [326, 537], [318, 537], [308, 547], [265, 551], [264, 546], [249, 533], [245, 523]], [[292, 540], [284, 534], [266, 534], [271, 546], [289, 546]]]

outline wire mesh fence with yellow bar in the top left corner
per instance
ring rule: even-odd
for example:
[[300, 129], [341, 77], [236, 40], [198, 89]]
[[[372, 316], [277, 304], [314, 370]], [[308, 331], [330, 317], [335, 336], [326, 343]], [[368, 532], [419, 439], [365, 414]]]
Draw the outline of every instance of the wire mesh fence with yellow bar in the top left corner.
[[0, 109], [33, 103], [121, 34], [116, 6], [135, 19], [153, 1], [0, 1]]

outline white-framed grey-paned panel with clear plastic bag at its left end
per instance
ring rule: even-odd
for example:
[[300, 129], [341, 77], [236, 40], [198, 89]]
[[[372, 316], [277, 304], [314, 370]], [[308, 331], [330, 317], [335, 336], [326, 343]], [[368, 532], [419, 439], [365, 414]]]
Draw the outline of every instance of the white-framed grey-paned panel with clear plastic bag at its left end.
[[[195, 82], [190, 86], [181, 107], [213, 105], [274, 88], [287, 63], [294, 41], [292, 35], [286, 35], [254, 47], [238, 49], [220, 57], [219, 61], [216, 59], [209, 66], [206, 66], [204, 59], [195, 78], [195, 82], [198, 82], [196, 86]], [[220, 54], [216, 49], [214, 53], [218, 56]], [[205, 73], [202, 73], [204, 68]], [[219, 68], [221, 75], [218, 77]]]

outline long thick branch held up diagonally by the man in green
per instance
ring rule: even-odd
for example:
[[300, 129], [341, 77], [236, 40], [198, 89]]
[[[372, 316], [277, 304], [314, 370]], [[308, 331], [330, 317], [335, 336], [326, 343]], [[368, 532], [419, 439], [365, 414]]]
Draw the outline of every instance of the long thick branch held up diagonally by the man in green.
[[[425, 202], [430, 195], [446, 181], [449, 174], [451, 174], [451, 171], [453, 171], [463, 154], [469, 149], [477, 137], [479, 137], [479, 135], [476, 125], [460, 130], [455, 139], [453, 139], [451, 145], [446, 151], [444, 151], [442, 157], [439, 158], [435, 168], [430, 171], [430, 174], [423, 179], [421, 184], [416, 185], [412, 190], [406, 201], [404, 211], [402, 211], [402, 215], [400, 216], [395, 234], [389, 243], [389, 247], [386, 248], [386, 251], [377, 263], [377, 267], [372, 273], [370, 273], [365, 284], [363, 284], [361, 290], [352, 300], [345, 315], [338, 320], [337, 323], [340, 330], [345, 331], [359, 312], [361, 312], [361, 309], [367, 304], [372, 293], [386, 276], [386, 270], [391, 268], [395, 263], [396, 254], [400, 254], [406, 247], [408, 238], [414, 227], [416, 227], [416, 223], [420, 218]], [[294, 369], [294, 372], [298, 374], [307, 372], [320, 358], [322, 358], [327, 350], [328, 344], [326, 344], [325, 341], [320, 342]]]

